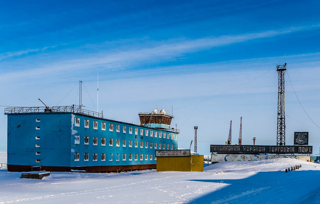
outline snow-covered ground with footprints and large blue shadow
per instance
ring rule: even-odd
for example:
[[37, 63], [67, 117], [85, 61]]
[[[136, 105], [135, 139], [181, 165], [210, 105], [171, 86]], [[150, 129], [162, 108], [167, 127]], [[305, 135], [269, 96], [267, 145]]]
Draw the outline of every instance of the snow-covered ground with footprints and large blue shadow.
[[52, 172], [43, 180], [1, 169], [0, 203], [320, 203], [319, 170], [288, 158], [221, 162], [204, 172]]

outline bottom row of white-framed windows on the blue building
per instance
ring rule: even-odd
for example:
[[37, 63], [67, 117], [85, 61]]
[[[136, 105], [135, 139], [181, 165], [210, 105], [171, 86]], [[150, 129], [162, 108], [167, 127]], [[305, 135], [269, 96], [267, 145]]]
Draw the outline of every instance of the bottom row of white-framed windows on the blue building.
[[[129, 154], [129, 161], [132, 161], [132, 155], [133, 154]], [[148, 158], [150, 158], [150, 161], [152, 161], [153, 154], [150, 154], [150, 157], [148, 157], [148, 156], [149, 156], [149, 154], [145, 154], [144, 159], [146, 161], [148, 161]], [[98, 161], [98, 154], [97, 153], [93, 153], [92, 160]], [[109, 161], [112, 161], [112, 160], [113, 160], [113, 153], [109, 153]], [[122, 160], [123, 161], [127, 160], [127, 154], [122, 154]], [[138, 161], [138, 154], [134, 154], [134, 160]], [[143, 154], [140, 154], [140, 161], [142, 161], [142, 160], [143, 160]], [[156, 156], [155, 156], [155, 160], [156, 160]], [[75, 152], [75, 161], [80, 161], [80, 153], [79, 152]], [[89, 153], [84, 153], [84, 161], [89, 161]], [[105, 153], [101, 153], [101, 161], [106, 161], [106, 154]], [[120, 154], [116, 154], [116, 161], [120, 161]]]

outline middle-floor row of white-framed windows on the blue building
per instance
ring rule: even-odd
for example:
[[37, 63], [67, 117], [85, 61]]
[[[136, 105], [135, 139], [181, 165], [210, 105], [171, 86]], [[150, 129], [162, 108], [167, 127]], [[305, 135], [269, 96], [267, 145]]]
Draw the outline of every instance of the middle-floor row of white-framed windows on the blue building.
[[[40, 137], [39, 137], [40, 139]], [[75, 135], [75, 144], [80, 144], [80, 136]], [[89, 136], [84, 136], [84, 144], [89, 145]], [[150, 144], [150, 146], [148, 145]], [[157, 149], [157, 143], [148, 143], [145, 142], [145, 148], [152, 149], [154, 144], [154, 148]], [[93, 145], [98, 145], [98, 137], [93, 137]], [[101, 146], [106, 146], [106, 138], [101, 138]], [[109, 139], [109, 146], [113, 146], [113, 139]], [[127, 141], [122, 140], [122, 146], [127, 146]], [[116, 147], [120, 147], [120, 139], [116, 139]], [[129, 140], [129, 147], [132, 147], [132, 140]], [[138, 141], [134, 141], [134, 147], [138, 148]], [[140, 142], [140, 148], [143, 148], [143, 142]], [[161, 149], [161, 143], [159, 143], [159, 149]], [[163, 144], [163, 149], [165, 150], [165, 144]], [[169, 150], [169, 144], [167, 144], [167, 149]], [[173, 149], [173, 144], [171, 144], [171, 149]], [[174, 145], [174, 149], [177, 149], [177, 145]]]

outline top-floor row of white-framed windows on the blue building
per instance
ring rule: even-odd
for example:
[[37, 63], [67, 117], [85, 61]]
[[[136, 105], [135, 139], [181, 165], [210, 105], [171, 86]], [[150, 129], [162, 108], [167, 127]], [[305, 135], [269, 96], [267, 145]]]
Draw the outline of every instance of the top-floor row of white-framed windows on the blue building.
[[[75, 126], [80, 127], [80, 118], [75, 118], [76, 122], [75, 122]], [[89, 120], [88, 119], [84, 119], [84, 127], [85, 128], [89, 128]], [[93, 129], [98, 129], [98, 121], [93, 121]], [[127, 126], [123, 126], [122, 128], [123, 133], [127, 133]], [[105, 122], [101, 122], [101, 130], [106, 130], [106, 123]], [[109, 131], [113, 132], [113, 124], [110, 123], [109, 124]], [[116, 132], [119, 133], [120, 132], [120, 125], [116, 125]], [[158, 137], [158, 132], [157, 131], [152, 131], [150, 130], [150, 137], [153, 137], [153, 132], [155, 132], [155, 137]], [[129, 127], [129, 134], [132, 134], [132, 127]], [[134, 134], [138, 135], [138, 128], [134, 129]], [[140, 129], [140, 135], [143, 136], [143, 129]], [[145, 135], [149, 136], [149, 130], [145, 130]], [[159, 132], [159, 138], [165, 138], [165, 133], [161, 133]], [[173, 136], [173, 134], [171, 134], [171, 139], [173, 140], [173, 137], [175, 140], [177, 140], [177, 134], [175, 134]], [[170, 138], [170, 133], [167, 133], [167, 139]]]

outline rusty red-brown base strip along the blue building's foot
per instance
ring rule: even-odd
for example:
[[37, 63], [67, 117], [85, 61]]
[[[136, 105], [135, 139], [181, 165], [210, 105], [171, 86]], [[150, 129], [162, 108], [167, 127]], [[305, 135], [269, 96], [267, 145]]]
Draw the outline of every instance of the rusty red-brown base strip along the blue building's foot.
[[[32, 166], [25, 165], [11, 165], [8, 164], [8, 171], [32, 171]], [[57, 172], [70, 172], [72, 170], [85, 171], [86, 173], [98, 173], [98, 172], [116, 172], [116, 171], [132, 171], [132, 170], [144, 170], [144, 169], [156, 169], [156, 164], [138, 164], [138, 165], [116, 165], [116, 166], [93, 166], [93, 167], [49, 167], [41, 166], [36, 170], [41, 171], [57, 171]]]

